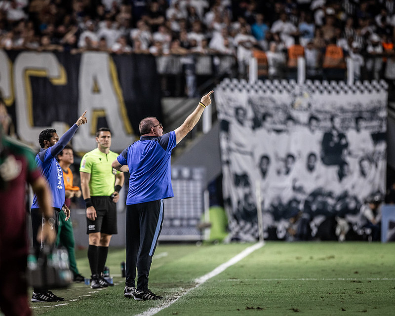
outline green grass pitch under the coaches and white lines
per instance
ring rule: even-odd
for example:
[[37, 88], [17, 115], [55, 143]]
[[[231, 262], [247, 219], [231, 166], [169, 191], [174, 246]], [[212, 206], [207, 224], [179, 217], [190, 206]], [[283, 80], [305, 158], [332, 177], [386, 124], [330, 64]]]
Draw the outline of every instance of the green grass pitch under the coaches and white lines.
[[[74, 283], [53, 290], [65, 302], [31, 303], [33, 315], [153, 315], [153, 308], [158, 316], [395, 315], [395, 243], [268, 241], [195, 287], [196, 278], [251, 245], [160, 243], [149, 285], [162, 301], [123, 297], [125, 250], [110, 247], [114, 287], [92, 290]], [[77, 257], [81, 274], [89, 276], [86, 251]], [[161, 309], [164, 304], [169, 306]]]

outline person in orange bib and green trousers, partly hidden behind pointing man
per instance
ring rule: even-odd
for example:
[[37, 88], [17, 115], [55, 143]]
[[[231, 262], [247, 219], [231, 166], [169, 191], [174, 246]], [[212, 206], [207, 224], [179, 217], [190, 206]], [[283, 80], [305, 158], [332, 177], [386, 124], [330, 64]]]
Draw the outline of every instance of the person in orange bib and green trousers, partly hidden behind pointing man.
[[[70, 208], [71, 198], [81, 196], [81, 190], [79, 190], [79, 187], [73, 186], [73, 173], [70, 169], [70, 166], [74, 163], [73, 148], [66, 145], [58, 154], [57, 158], [63, 171], [63, 181], [66, 190], [65, 204]], [[56, 238], [56, 246], [59, 244], [67, 249], [69, 254], [70, 270], [73, 272], [74, 281], [83, 282], [85, 278], [79, 274], [77, 268], [73, 225], [71, 221], [66, 221], [66, 215], [62, 212], [59, 213], [59, 228]]]

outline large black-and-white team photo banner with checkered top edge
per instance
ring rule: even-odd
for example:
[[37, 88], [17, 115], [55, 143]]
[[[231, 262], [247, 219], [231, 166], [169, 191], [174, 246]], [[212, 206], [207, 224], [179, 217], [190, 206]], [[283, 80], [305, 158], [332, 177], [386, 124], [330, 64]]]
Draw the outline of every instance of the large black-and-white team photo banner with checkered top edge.
[[[225, 79], [215, 89], [231, 236], [330, 239], [386, 180], [387, 84]], [[257, 205], [257, 201], [260, 201]], [[258, 207], [257, 207], [258, 206]]]

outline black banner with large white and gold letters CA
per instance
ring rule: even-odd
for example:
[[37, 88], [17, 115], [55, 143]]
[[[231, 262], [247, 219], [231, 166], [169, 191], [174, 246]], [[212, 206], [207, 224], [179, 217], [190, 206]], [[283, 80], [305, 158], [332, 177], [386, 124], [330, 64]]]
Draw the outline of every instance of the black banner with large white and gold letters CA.
[[152, 55], [0, 50], [0, 93], [18, 136], [35, 147], [43, 129], [61, 136], [85, 110], [88, 123], [72, 141], [82, 153], [97, 146], [99, 127], [111, 129], [111, 149], [119, 152], [139, 134], [142, 118], [162, 118]]

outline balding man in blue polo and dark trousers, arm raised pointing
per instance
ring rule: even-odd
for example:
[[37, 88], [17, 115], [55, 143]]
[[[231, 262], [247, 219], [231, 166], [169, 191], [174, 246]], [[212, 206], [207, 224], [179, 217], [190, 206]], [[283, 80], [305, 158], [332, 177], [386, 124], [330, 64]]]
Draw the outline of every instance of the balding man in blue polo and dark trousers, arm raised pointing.
[[[148, 289], [148, 275], [163, 222], [163, 199], [173, 197], [170, 156], [176, 145], [194, 128], [206, 106], [210, 91], [195, 111], [176, 130], [163, 135], [157, 118], [141, 120], [140, 140], [115, 159], [113, 168], [130, 172], [126, 199], [126, 281], [123, 295], [135, 300], [159, 300]], [[135, 286], [137, 268], [137, 287]]]

